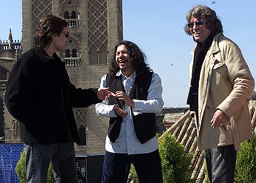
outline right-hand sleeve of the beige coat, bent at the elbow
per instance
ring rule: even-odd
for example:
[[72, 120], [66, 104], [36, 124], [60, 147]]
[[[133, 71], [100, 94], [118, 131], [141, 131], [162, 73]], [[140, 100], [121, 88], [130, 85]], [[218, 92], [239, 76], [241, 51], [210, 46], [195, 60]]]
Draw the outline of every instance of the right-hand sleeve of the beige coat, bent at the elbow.
[[252, 95], [254, 79], [241, 50], [235, 44], [227, 45], [224, 51], [227, 55], [225, 64], [228, 67], [229, 80], [233, 83], [233, 90], [217, 108], [230, 118]]

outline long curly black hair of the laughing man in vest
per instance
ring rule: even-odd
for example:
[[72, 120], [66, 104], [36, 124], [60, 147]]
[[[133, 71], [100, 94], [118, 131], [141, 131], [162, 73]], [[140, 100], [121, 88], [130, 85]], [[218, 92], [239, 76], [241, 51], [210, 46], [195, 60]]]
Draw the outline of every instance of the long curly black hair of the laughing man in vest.
[[115, 76], [118, 70], [120, 70], [120, 67], [116, 63], [116, 49], [120, 45], [124, 45], [128, 49], [130, 61], [137, 74], [151, 70], [150, 67], [148, 67], [148, 64], [146, 64], [147, 57], [135, 43], [132, 43], [131, 41], [121, 41], [114, 48], [113, 59], [109, 67], [109, 74]]

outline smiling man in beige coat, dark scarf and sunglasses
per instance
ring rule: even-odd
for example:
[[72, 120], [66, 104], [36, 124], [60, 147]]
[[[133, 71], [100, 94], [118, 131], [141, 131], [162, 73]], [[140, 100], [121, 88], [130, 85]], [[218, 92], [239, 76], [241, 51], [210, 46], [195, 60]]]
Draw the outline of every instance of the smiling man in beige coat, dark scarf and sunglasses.
[[196, 42], [187, 104], [195, 116], [198, 148], [205, 150], [211, 182], [233, 182], [239, 143], [252, 137], [248, 103], [254, 79], [215, 11], [196, 6], [185, 31]]

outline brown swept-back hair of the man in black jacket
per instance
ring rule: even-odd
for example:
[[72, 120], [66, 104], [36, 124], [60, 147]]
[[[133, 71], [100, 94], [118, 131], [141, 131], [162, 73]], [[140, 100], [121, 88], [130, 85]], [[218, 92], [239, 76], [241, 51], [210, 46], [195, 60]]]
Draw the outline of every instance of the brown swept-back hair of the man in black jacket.
[[67, 27], [68, 23], [54, 15], [46, 15], [43, 17], [36, 27], [34, 39], [35, 45], [40, 45], [45, 48], [51, 44], [51, 36], [54, 34], [60, 35], [63, 28]]

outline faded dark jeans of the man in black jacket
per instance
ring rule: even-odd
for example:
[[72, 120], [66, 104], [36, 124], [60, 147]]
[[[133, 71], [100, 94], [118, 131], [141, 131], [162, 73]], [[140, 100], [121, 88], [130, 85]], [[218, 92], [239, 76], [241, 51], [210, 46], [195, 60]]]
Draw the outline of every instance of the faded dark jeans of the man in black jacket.
[[54, 179], [58, 183], [77, 183], [75, 172], [75, 155], [74, 153], [62, 160], [56, 155], [58, 144], [49, 145], [50, 153], [44, 153], [40, 150], [40, 145], [32, 147], [24, 144], [26, 153], [26, 179], [27, 183], [47, 183], [47, 172], [49, 162], [53, 165]]

